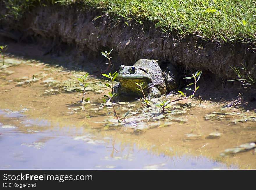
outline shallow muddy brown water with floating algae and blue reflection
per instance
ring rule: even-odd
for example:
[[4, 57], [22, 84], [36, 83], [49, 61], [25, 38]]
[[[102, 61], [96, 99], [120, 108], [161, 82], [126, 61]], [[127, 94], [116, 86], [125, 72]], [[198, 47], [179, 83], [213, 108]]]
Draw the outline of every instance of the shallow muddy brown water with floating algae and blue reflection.
[[90, 102], [80, 104], [74, 88], [82, 72], [15, 57], [6, 66], [0, 169], [256, 169], [253, 148], [221, 155], [256, 141], [253, 111], [184, 100], [163, 115], [154, 106], [161, 97], [149, 110], [138, 101], [116, 104], [120, 116], [130, 110], [118, 124], [111, 106], [102, 108], [106, 81], [90, 77]]

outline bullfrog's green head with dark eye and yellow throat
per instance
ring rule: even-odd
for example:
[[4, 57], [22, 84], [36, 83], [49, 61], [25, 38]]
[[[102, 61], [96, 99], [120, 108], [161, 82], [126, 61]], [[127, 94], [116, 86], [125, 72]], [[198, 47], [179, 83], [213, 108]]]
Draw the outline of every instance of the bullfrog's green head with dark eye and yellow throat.
[[124, 66], [119, 67], [119, 72], [116, 77], [121, 86], [130, 89], [131, 91], [137, 92], [138, 85], [141, 82], [144, 82], [144, 85], [147, 85], [151, 82], [150, 76], [148, 75], [147, 70], [135, 66]]

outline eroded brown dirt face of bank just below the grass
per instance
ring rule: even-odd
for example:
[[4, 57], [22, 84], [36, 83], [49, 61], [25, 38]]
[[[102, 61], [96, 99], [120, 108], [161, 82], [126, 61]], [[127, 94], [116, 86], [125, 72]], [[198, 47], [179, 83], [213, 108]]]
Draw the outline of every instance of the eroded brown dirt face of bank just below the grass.
[[143, 25], [129, 22], [127, 26], [122, 19], [113, 21], [111, 16], [100, 10], [82, 11], [76, 6], [39, 6], [18, 22], [1, 20], [0, 27], [9, 36], [13, 35], [12, 31], [20, 32], [20, 35], [13, 35], [18, 36], [16, 40], [45, 40], [46, 54], [60, 49], [60, 44], [72, 46], [77, 57], [103, 57], [101, 51], [114, 48], [111, 55], [115, 68], [120, 64], [132, 65], [142, 58], [157, 59], [161, 64], [174, 64], [182, 72], [186, 70], [190, 74], [202, 70], [204, 76], [220, 77], [223, 82], [237, 77], [230, 66], [243, 64], [250, 70], [256, 60], [255, 47], [249, 44], [219, 44], [196, 35], [181, 37], [167, 34], [149, 21], [144, 21]]

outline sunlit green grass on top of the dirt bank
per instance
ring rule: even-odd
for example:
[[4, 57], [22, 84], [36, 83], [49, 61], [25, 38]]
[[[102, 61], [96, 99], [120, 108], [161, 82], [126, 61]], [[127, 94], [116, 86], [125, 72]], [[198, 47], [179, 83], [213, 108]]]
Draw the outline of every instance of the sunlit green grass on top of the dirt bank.
[[[126, 23], [136, 20], [143, 24], [151, 20], [163, 32], [178, 32], [182, 36], [198, 35], [220, 43], [241, 41], [256, 44], [255, 0], [5, 0], [17, 9], [40, 4], [79, 3], [82, 8], [99, 8]], [[22, 2], [22, 3], [21, 3]], [[25, 6], [24, 6], [25, 5]], [[10, 8], [13, 9], [13, 8]], [[13, 12], [15, 12], [14, 10]]]

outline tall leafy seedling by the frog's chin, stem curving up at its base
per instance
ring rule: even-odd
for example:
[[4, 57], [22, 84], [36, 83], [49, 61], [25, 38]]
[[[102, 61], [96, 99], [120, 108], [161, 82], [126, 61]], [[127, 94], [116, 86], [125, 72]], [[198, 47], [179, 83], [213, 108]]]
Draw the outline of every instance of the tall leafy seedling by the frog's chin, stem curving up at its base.
[[[118, 75], [118, 73], [117, 73], [117, 71], [115, 72], [115, 73], [109, 73], [108, 75], [107, 74], [102, 74], [104, 77], [107, 77], [107, 78], [109, 78], [110, 80], [111, 80], [111, 86], [110, 86], [110, 84], [108, 84], [108, 83], [106, 83], [105, 85], [107, 86], [107, 87], [109, 87], [109, 88], [111, 88], [111, 92], [109, 92], [109, 96], [107, 96], [107, 95], [104, 95], [104, 97], [105, 98], [109, 98], [109, 100], [108, 101], [112, 101], [112, 107], [113, 107], [113, 110], [114, 110], [114, 116], [117, 118], [117, 120], [118, 120], [118, 123], [121, 123], [122, 121], [124, 121], [125, 120], [125, 117], [129, 114], [129, 112], [130, 111], [128, 111], [126, 114], [125, 114], [125, 117], [124, 118], [120, 118], [120, 117], [118, 117], [118, 115], [117, 115], [117, 113], [116, 113], [116, 111], [115, 111], [115, 106], [114, 106], [114, 101], [113, 101], [113, 99], [114, 99], [114, 97], [117, 95], [117, 93], [114, 93], [114, 86], [113, 86], [113, 82], [114, 82], [114, 80], [115, 80], [115, 78], [117, 77], [117, 75]], [[106, 103], [106, 99], [103, 99], [103, 101]]]

